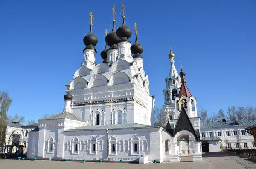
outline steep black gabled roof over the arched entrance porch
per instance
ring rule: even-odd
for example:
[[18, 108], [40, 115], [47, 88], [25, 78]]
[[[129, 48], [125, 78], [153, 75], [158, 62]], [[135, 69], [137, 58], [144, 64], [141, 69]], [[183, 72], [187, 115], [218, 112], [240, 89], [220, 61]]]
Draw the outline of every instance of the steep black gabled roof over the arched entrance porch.
[[180, 132], [182, 130], [186, 130], [186, 131], [191, 132], [195, 136], [195, 139], [200, 141], [200, 137], [198, 135], [199, 131], [198, 131], [198, 134], [197, 134], [197, 132], [195, 131], [195, 129], [192, 125], [192, 123], [189, 120], [189, 116], [186, 114], [186, 111], [185, 111], [184, 107], [181, 108], [180, 115], [177, 119], [174, 131], [172, 133], [172, 137], [174, 137], [178, 132]]

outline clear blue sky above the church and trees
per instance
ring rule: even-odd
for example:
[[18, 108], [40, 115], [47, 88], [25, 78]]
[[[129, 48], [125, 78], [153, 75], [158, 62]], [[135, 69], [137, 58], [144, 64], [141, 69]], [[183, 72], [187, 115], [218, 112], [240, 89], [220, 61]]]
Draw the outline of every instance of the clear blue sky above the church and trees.
[[[159, 1], [160, 2], [160, 1]], [[209, 113], [227, 106], [256, 106], [256, 2], [254, 0], [1, 0], [0, 90], [9, 92], [13, 103], [9, 115], [37, 120], [63, 110], [67, 80], [81, 65], [83, 37], [98, 37], [96, 62], [105, 46], [104, 30], [126, 23], [144, 47], [145, 74], [149, 76], [155, 106], [163, 105], [165, 78], [169, 75], [169, 45], [186, 72], [187, 86], [198, 106]], [[119, 20], [120, 19], [120, 20]]]

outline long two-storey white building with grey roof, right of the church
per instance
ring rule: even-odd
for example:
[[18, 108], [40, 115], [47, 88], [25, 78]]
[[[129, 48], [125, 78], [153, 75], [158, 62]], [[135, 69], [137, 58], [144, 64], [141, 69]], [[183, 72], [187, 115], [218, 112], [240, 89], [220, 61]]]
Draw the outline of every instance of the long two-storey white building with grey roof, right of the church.
[[[245, 128], [255, 125], [256, 120], [237, 120], [201, 123], [203, 152], [218, 152], [230, 149], [255, 149], [251, 132]], [[227, 141], [225, 141], [227, 139]]]

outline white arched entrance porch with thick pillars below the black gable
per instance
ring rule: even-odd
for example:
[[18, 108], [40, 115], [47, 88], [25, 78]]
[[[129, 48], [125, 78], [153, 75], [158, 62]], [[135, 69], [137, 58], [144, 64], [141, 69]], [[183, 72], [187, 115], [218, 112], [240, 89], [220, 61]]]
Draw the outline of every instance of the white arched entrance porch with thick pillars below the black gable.
[[195, 136], [187, 131], [182, 130], [177, 132], [174, 137], [173, 142], [171, 143], [171, 154], [170, 154], [170, 162], [180, 162], [181, 154], [185, 154], [184, 145], [187, 153], [193, 154], [193, 162], [201, 162], [202, 153], [200, 151], [201, 142], [197, 141]]

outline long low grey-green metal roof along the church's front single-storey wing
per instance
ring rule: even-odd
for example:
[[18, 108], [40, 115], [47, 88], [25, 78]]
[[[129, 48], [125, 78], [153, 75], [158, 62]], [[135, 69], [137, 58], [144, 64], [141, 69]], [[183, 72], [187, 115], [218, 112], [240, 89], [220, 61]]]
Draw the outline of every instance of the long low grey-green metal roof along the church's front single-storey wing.
[[106, 130], [106, 129], [141, 129], [141, 128], [160, 128], [158, 126], [148, 126], [144, 124], [129, 123], [129, 124], [108, 124], [108, 125], [95, 125], [95, 126], [82, 126], [76, 129], [66, 131], [79, 131], [79, 130]]

